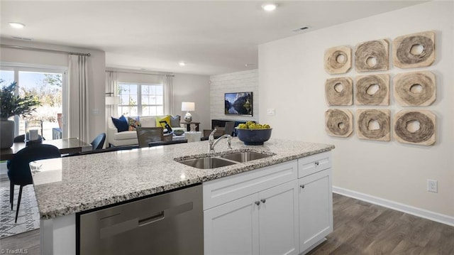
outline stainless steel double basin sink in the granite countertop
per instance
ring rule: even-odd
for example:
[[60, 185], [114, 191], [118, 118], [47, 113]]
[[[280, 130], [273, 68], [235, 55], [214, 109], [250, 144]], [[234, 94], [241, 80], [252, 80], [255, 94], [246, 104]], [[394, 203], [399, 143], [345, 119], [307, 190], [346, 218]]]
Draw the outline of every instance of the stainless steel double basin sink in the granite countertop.
[[200, 169], [221, 168], [223, 166], [231, 166], [236, 163], [244, 163], [254, 161], [260, 158], [267, 158], [272, 155], [265, 153], [258, 153], [255, 151], [240, 151], [228, 153], [221, 156], [206, 156], [202, 158], [192, 158], [184, 161], [178, 161], [187, 166]]

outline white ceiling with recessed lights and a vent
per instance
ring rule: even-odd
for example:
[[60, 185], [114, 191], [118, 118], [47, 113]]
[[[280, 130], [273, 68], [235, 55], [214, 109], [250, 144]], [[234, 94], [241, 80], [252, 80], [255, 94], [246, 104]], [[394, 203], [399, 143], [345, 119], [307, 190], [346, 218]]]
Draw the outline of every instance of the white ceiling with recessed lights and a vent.
[[107, 67], [217, 75], [258, 68], [261, 43], [421, 2], [275, 1], [268, 13], [264, 1], [1, 0], [1, 37], [104, 50]]

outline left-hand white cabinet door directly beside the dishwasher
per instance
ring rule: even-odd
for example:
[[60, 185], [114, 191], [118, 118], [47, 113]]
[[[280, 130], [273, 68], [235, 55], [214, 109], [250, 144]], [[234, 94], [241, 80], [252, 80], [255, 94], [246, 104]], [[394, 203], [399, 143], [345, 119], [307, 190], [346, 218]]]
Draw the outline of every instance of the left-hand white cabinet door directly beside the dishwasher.
[[204, 254], [259, 254], [258, 201], [255, 193], [204, 211]]

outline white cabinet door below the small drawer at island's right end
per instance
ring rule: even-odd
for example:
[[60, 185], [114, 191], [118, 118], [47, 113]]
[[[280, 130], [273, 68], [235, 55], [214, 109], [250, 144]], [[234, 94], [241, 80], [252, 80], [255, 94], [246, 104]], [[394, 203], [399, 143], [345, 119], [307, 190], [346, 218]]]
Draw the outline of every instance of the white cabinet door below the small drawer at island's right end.
[[299, 249], [302, 252], [333, 231], [331, 168], [299, 179]]

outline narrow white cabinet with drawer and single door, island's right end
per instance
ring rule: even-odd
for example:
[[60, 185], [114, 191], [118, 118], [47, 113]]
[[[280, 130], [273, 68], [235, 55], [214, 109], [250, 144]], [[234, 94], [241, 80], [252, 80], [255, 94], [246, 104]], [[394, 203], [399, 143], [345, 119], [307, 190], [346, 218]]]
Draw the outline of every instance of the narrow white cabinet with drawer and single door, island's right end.
[[299, 249], [302, 254], [333, 232], [333, 195], [330, 153], [300, 158]]

